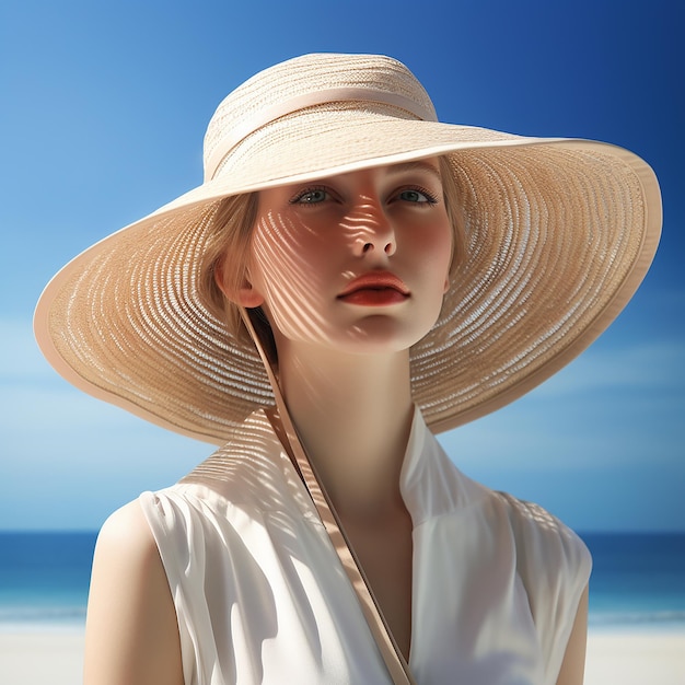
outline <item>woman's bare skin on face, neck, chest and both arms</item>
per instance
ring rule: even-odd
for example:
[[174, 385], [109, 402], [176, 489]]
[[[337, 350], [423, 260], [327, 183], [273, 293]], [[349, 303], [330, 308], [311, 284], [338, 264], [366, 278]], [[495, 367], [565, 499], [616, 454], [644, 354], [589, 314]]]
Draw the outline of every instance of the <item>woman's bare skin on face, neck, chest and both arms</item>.
[[[413, 526], [399, 473], [414, 411], [408, 348], [432, 325], [446, 287], [451, 228], [444, 207], [425, 201], [440, 197], [440, 187], [438, 165], [429, 162], [336, 176], [314, 189], [263, 191], [254, 259], [241, 290], [225, 289], [270, 320], [292, 420], [407, 659]], [[335, 232], [322, 228], [332, 223]], [[279, 239], [282, 249], [270, 251]], [[316, 265], [306, 279], [288, 272], [302, 268], [293, 266], [292, 244], [305, 265]], [[340, 299], [369, 269], [392, 270], [410, 297], [380, 307]], [[221, 269], [218, 278], [223, 287]], [[585, 635], [587, 591], [557, 685], [582, 684]], [[184, 682], [174, 604], [137, 502], [113, 514], [98, 538], [84, 673], [86, 685]]]

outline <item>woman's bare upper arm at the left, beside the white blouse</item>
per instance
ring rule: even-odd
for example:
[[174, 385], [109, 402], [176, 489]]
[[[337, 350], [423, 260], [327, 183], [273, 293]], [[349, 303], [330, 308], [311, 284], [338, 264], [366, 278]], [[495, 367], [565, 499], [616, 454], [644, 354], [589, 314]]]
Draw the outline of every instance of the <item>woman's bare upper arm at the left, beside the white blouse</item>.
[[183, 685], [176, 612], [138, 502], [97, 538], [85, 627], [85, 685]]

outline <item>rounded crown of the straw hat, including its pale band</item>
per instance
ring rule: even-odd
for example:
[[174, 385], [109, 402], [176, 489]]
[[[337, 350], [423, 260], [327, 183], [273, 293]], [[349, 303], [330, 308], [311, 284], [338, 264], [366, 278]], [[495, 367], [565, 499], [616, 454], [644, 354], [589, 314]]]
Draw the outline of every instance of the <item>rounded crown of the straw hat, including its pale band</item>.
[[418, 79], [382, 55], [313, 54], [258, 72], [217, 107], [205, 135], [205, 181], [247, 136], [299, 109], [340, 101], [399, 107], [437, 121], [436, 108]]

